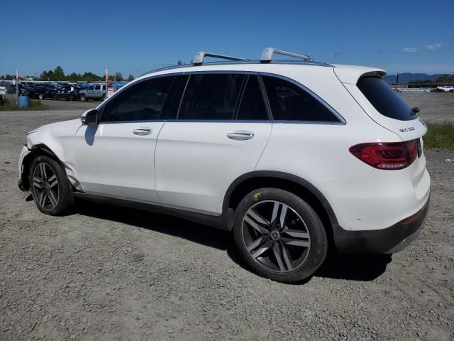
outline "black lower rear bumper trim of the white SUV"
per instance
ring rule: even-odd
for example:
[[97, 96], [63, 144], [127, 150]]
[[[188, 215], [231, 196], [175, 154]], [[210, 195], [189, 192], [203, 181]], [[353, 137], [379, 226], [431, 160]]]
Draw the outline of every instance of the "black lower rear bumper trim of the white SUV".
[[339, 252], [393, 254], [413, 242], [426, 220], [430, 197], [421, 210], [386, 229], [348, 231], [333, 225], [333, 237]]

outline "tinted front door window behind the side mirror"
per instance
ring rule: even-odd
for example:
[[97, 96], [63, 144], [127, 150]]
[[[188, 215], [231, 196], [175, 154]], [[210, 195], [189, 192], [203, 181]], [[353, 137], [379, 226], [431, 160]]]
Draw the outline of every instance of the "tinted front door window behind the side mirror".
[[101, 121], [146, 121], [160, 119], [161, 109], [175, 77], [138, 82], [107, 102]]

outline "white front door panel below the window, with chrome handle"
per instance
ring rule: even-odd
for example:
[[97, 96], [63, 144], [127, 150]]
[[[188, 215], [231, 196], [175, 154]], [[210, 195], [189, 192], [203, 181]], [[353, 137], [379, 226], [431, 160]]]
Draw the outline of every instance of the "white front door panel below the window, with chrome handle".
[[154, 153], [163, 124], [82, 126], [75, 148], [82, 188], [87, 193], [156, 203]]

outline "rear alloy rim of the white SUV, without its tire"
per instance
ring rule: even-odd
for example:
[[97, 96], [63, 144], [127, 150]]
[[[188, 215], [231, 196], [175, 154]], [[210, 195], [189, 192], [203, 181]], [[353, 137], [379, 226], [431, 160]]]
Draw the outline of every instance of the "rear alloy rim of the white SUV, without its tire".
[[268, 271], [294, 271], [309, 256], [309, 229], [301, 216], [284, 202], [256, 203], [246, 212], [241, 228], [250, 257]]

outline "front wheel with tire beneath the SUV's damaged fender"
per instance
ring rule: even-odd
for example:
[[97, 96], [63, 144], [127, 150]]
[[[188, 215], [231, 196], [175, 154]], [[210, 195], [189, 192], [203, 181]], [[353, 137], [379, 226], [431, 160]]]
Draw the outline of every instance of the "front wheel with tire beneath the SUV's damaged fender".
[[70, 181], [60, 163], [48, 156], [31, 163], [30, 190], [38, 210], [47, 215], [62, 215], [72, 206]]

